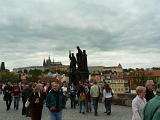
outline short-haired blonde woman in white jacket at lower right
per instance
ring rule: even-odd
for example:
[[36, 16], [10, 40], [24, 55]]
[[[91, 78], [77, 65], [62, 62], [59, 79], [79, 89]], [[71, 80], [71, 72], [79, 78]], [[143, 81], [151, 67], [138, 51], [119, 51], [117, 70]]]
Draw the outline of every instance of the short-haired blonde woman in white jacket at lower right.
[[138, 86], [136, 88], [137, 96], [132, 100], [132, 120], [143, 120], [143, 110], [146, 105], [146, 88]]

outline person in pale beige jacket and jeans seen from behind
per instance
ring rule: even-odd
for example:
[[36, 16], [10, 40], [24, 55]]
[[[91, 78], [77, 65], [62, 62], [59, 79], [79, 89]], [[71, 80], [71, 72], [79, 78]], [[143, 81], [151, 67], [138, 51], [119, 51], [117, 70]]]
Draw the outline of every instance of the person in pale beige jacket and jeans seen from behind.
[[99, 101], [99, 97], [100, 97], [100, 88], [97, 85], [97, 82], [94, 82], [94, 85], [91, 86], [90, 89], [90, 95], [93, 101], [93, 108], [94, 108], [94, 115], [97, 116], [98, 115], [98, 101]]

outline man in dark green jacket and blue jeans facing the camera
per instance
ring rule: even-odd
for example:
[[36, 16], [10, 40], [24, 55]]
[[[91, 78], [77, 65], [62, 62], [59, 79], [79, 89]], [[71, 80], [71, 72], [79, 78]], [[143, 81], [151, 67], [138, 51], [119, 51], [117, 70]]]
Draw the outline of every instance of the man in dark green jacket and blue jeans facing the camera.
[[60, 81], [51, 83], [51, 90], [46, 98], [46, 106], [50, 111], [51, 120], [62, 120], [62, 109], [65, 107], [65, 97], [61, 91]]

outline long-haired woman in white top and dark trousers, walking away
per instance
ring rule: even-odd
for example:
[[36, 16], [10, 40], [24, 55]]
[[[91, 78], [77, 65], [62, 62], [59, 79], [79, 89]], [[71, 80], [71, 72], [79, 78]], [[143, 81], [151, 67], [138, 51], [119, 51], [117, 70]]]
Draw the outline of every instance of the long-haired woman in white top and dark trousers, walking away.
[[103, 89], [103, 98], [104, 98], [104, 103], [105, 103], [105, 108], [107, 115], [111, 114], [111, 102], [112, 102], [112, 96], [113, 96], [113, 91], [109, 84], [106, 84], [104, 89]]

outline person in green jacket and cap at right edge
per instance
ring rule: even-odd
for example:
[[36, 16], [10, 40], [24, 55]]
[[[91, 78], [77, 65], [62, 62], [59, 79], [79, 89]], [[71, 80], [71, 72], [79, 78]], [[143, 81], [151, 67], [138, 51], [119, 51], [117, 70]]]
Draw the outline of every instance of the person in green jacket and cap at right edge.
[[160, 120], [160, 81], [157, 83], [156, 96], [146, 104], [143, 120]]

